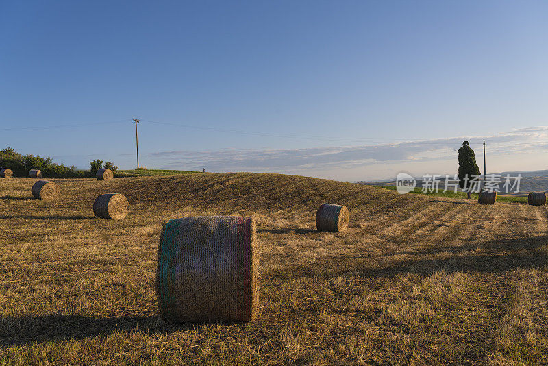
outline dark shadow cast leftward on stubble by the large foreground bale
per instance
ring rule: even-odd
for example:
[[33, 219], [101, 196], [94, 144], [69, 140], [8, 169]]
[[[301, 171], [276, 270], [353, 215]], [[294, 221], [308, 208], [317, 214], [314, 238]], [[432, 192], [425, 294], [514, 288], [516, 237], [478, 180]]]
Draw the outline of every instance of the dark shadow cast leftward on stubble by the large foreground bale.
[[84, 317], [80, 315], [49, 315], [45, 317], [3, 317], [0, 319], [0, 347], [67, 341], [140, 330], [148, 334], [179, 332], [195, 324], [169, 324], [157, 316], [148, 317]]

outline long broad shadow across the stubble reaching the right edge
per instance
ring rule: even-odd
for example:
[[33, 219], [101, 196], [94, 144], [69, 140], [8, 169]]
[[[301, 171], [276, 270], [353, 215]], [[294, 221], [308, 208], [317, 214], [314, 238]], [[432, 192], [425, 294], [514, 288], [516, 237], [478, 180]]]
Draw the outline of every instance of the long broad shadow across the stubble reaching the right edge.
[[[515, 239], [500, 239], [483, 243], [463, 243], [462, 245], [439, 245], [417, 249], [387, 252], [380, 256], [366, 253], [353, 256], [334, 255], [314, 263], [296, 263], [290, 268], [273, 271], [265, 276], [288, 279], [297, 277], [336, 276], [362, 278], [390, 278], [398, 275], [419, 274], [430, 276], [438, 271], [446, 273], [497, 273], [514, 269], [548, 269], [548, 253], [538, 250], [548, 245], [548, 236], [534, 236]], [[389, 260], [406, 254], [403, 260]], [[450, 254], [451, 256], [447, 256]]]

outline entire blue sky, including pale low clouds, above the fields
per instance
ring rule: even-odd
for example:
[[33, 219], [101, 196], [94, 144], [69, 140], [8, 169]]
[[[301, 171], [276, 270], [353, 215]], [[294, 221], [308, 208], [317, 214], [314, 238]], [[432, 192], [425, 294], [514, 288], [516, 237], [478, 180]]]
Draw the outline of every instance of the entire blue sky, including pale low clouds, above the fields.
[[486, 138], [488, 173], [548, 169], [547, 14], [543, 1], [1, 1], [0, 148], [133, 168], [139, 118], [149, 168], [454, 173], [462, 140], [480, 159]]

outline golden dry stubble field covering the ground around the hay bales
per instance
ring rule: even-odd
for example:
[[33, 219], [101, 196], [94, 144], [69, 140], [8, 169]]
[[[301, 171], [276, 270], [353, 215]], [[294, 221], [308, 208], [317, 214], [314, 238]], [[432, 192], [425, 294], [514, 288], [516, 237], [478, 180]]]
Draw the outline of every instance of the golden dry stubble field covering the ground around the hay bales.
[[[0, 363], [548, 363], [546, 206], [250, 173], [54, 181], [44, 202], [0, 180]], [[94, 217], [111, 191], [126, 219]], [[323, 202], [345, 232], [316, 232]], [[256, 321], [158, 319], [162, 222], [192, 215], [254, 215]]]

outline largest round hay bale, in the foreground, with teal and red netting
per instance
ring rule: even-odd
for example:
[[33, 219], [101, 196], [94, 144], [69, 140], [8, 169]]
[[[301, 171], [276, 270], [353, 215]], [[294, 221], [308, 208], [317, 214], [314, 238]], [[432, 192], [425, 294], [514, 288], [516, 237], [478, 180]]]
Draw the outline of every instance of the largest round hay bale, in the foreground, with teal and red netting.
[[166, 321], [252, 321], [258, 303], [255, 223], [202, 216], [164, 223], [156, 293]]

